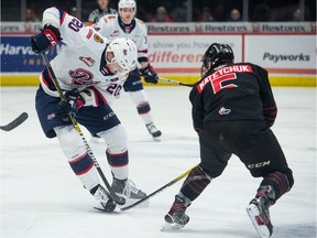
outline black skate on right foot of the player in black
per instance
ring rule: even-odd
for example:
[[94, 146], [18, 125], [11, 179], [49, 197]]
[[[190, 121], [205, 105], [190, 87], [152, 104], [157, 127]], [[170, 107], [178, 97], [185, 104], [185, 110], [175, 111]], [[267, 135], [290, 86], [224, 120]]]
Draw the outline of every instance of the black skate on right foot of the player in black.
[[247, 207], [247, 213], [261, 238], [269, 238], [273, 234], [269, 208], [270, 198], [265, 195], [253, 198]]

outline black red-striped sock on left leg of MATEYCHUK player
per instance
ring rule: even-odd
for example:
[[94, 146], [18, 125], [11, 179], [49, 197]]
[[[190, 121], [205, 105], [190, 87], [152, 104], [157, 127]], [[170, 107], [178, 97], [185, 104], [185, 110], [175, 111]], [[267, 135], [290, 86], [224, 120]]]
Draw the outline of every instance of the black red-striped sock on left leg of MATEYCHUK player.
[[207, 175], [200, 166], [196, 166], [186, 177], [182, 185], [181, 193], [193, 202], [208, 186], [210, 181], [211, 177]]

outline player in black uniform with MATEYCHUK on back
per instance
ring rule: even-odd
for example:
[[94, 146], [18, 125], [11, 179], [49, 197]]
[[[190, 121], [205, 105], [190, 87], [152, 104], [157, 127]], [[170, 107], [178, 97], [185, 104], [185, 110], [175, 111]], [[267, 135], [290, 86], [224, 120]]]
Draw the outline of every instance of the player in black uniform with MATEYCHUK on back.
[[203, 56], [201, 73], [203, 78], [189, 94], [201, 161], [175, 196], [163, 229], [181, 228], [188, 223], [186, 208], [236, 154], [252, 176], [263, 177], [247, 212], [259, 235], [270, 237], [273, 226], [269, 208], [291, 190], [294, 178], [270, 129], [277, 109], [267, 72], [251, 63], [234, 64], [232, 48], [214, 43]]

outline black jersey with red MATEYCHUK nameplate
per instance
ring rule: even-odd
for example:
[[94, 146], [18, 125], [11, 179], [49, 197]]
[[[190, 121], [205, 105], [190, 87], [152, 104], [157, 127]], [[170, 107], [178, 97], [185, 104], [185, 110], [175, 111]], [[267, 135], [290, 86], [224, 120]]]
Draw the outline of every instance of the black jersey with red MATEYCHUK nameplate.
[[189, 100], [195, 130], [223, 120], [265, 120], [271, 127], [277, 112], [267, 72], [250, 63], [208, 72], [195, 84]]

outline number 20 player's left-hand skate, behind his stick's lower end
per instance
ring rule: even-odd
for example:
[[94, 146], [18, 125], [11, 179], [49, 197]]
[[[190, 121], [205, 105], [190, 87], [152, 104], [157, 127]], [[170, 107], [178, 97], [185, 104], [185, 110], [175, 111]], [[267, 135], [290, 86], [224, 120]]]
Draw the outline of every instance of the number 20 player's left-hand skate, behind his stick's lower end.
[[112, 213], [116, 208], [116, 203], [110, 198], [109, 193], [98, 184], [94, 188], [90, 190], [90, 194], [95, 197], [95, 199], [99, 201], [102, 209], [96, 207], [96, 209], [100, 209], [106, 213]]

